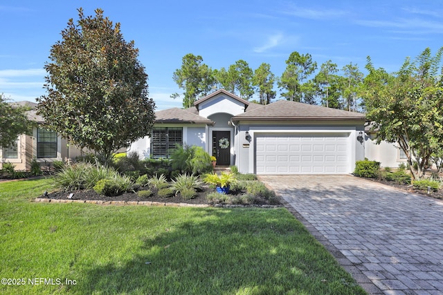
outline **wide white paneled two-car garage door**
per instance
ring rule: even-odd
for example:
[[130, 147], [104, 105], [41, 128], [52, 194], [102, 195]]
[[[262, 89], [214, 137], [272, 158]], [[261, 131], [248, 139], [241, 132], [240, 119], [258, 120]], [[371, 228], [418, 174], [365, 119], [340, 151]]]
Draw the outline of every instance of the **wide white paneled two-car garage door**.
[[258, 135], [255, 137], [257, 174], [350, 173], [349, 135]]

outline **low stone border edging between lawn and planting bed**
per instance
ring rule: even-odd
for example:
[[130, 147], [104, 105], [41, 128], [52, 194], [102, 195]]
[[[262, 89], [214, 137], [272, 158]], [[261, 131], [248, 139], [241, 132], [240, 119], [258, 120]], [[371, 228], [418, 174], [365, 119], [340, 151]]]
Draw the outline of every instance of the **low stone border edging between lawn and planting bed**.
[[102, 201], [102, 200], [62, 200], [62, 199], [48, 199], [35, 198], [34, 202], [41, 203], [87, 203], [100, 205], [141, 205], [141, 206], [157, 206], [157, 207], [196, 207], [196, 208], [282, 208], [282, 205], [242, 205], [242, 204], [190, 204], [190, 203], [173, 203], [173, 202], [154, 202], [154, 201]]

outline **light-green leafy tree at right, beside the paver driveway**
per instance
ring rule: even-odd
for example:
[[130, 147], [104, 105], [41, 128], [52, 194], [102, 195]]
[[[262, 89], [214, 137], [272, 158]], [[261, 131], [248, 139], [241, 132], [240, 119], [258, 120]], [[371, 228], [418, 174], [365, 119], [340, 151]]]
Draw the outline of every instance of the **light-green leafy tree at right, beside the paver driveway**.
[[442, 149], [442, 53], [440, 49], [433, 57], [427, 48], [393, 74], [375, 69], [369, 57], [366, 65], [363, 97], [367, 117], [378, 129], [377, 142], [397, 142], [415, 179], [424, 175], [431, 155]]

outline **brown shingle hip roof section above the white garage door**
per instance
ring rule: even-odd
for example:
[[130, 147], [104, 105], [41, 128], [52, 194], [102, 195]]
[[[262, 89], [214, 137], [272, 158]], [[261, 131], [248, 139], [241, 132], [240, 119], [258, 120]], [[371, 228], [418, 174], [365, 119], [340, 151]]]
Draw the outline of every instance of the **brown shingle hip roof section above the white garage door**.
[[336, 108], [278, 100], [233, 117], [234, 122], [240, 120], [365, 120], [365, 115]]

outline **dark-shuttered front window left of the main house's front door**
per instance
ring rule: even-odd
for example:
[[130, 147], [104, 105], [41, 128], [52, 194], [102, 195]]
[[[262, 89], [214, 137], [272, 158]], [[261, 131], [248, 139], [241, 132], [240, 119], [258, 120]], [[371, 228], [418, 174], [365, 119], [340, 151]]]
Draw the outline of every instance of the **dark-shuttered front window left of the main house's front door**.
[[181, 127], [154, 128], [151, 137], [151, 158], [170, 158], [176, 144], [183, 144]]

